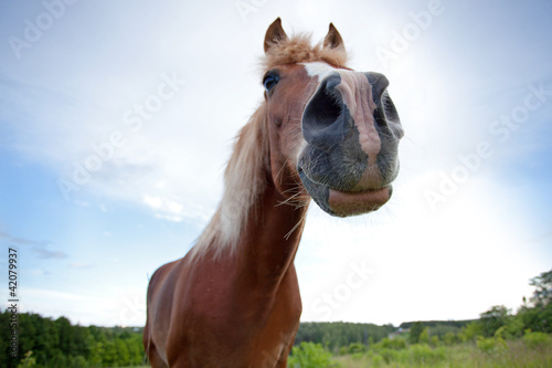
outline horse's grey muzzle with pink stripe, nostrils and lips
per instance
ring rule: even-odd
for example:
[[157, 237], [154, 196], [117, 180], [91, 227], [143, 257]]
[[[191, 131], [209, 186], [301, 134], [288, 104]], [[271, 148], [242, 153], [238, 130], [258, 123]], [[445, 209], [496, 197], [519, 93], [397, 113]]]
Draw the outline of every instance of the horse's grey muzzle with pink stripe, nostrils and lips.
[[403, 129], [388, 85], [382, 74], [336, 70], [305, 107], [297, 169], [307, 192], [332, 215], [371, 212], [391, 198]]

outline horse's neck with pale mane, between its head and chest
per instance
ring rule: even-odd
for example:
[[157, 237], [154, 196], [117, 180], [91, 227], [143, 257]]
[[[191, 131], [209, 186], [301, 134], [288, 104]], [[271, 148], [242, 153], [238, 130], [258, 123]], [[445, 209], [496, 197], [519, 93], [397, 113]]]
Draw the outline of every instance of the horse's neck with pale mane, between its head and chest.
[[192, 259], [225, 260], [245, 281], [278, 283], [295, 257], [308, 203], [283, 204], [287, 198], [270, 175], [265, 119], [262, 104], [242, 128], [224, 174], [221, 206]]

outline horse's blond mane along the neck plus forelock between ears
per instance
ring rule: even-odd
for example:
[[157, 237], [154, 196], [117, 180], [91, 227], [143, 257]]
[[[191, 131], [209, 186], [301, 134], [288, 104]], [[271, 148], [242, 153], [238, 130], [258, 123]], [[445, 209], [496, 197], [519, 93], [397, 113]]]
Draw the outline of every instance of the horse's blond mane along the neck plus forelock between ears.
[[[299, 34], [272, 43], [262, 59], [263, 73], [277, 65], [326, 62], [343, 67], [344, 48], [311, 45], [310, 35]], [[209, 251], [219, 257], [236, 253], [240, 234], [253, 204], [266, 187], [269, 169], [269, 143], [266, 132], [266, 103], [257, 108], [236, 137], [234, 150], [224, 172], [224, 192], [219, 209], [190, 251], [192, 259]]]

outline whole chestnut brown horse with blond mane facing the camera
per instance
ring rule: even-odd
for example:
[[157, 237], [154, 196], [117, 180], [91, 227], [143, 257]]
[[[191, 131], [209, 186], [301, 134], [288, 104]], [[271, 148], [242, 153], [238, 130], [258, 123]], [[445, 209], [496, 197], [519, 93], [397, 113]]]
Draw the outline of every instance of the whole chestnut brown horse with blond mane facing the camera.
[[278, 18], [264, 49], [265, 101], [237, 137], [219, 210], [189, 254], [150, 280], [153, 367], [286, 367], [310, 198], [347, 217], [391, 197], [403, 129], [385, 76], [348, 69], [332, 24], [312, 46]]

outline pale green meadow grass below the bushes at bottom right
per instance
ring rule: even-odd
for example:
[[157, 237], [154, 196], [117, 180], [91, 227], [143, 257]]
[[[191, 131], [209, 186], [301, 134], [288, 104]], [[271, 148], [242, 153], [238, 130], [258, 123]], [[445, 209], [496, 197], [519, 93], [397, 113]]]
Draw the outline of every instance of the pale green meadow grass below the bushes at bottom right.
[[381, 349], [333, 357], [341, 368], [549, 368], [552, 367], [552, 345], [530, 347], [522, 340], [507, 341], [506, 348], [485, 350], [475, 344], [452, 347], [412, 345], [406, 349]]

